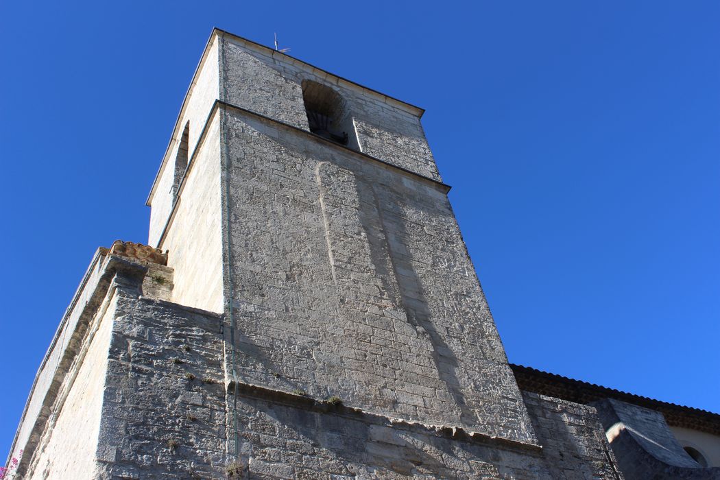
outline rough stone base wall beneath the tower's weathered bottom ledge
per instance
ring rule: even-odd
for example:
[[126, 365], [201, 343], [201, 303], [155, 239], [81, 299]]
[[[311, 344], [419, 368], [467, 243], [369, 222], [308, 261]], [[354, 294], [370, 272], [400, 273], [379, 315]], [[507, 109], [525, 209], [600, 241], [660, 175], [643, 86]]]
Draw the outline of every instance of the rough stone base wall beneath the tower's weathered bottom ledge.
[[247, 478], [474, 479], [518, 473], [552, 478], [543, 460], [527, 450], [428, 433], [421, 425], [389, 425], [388, 419], [344, 407], [307, 407], [295, 408], [279, 398], [238, 398]]

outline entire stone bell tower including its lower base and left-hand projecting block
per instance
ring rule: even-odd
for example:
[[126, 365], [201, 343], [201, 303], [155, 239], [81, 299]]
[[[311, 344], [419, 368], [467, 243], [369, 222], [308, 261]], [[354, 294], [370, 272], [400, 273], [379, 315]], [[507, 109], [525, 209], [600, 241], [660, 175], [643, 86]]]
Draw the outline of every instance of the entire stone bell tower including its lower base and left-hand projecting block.
[[[101, 251], [79, 291], [96, 306], [74, 335], [105, 362], [79, 375], [104, 392], [75, 447], [90, 460], [51, 454], [43, 425], [72, 417], [47, 420], [38, 390], [24, 471], [616, 478], [586, 407], [564, 415], [590, 425], [567, 440], [587, 451], [541, 445], [566, 425], [518, 389], [422, 114], [214, 30], [148, 198], [142, 248], [166, 258]], [[66, 382], [81, 352], [46, 376]]]

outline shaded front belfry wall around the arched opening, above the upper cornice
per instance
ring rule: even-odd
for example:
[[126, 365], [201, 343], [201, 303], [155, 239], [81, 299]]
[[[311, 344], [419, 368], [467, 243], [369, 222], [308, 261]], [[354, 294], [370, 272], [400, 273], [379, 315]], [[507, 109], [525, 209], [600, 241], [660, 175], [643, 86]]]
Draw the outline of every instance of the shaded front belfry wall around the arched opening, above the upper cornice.
[[[410, 171], [440, 180], [419, 115], [398, 107], [400, 102], [383, 98], [328, 73], [279, 53], [261, 52], [225, 37], [222, 57], [221, 97], [229, 104], [309, 130], [301, 84], [323, 83], [346, 102], [361, 152]], [[276, 58], [277, 57], [277, 58]], [[354, 142], [351, 141], [350, 144]]]

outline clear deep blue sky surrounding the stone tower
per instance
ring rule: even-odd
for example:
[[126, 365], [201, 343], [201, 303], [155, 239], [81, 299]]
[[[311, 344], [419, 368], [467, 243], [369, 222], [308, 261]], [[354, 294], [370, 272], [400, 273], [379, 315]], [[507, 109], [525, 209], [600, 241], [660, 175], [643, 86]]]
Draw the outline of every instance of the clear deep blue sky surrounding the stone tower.
[[427, 110], [510, 361], [720, 412], [716, 1], [0, 3], [0, 456], [213, 26]]

